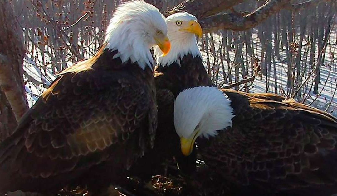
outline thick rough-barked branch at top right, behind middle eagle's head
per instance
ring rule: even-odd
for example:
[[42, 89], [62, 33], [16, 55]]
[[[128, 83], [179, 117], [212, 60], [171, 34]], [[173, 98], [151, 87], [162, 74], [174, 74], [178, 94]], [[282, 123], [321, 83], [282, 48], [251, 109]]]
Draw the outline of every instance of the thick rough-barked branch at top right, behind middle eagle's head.
[[[185, 0], [171, 10], [165, 11], [165, 16], [180, 11], [187, 11], [195, 15], [203, 27], [205, 33], [220, 29], [232, 29], [234, 31], [245, 31], [256, 27], [264, 22], [269, 16], [282, 9], [299, 11], [321, 2], [335, 0], [309, 0], [298, 4], [291, 4], [291, 0], [267, 0], [265, 4], [249, 14], [233, 12], [233, 6], [244, 2], [244, 0]], [[220, 13], [225, 10], [232, 13]]]

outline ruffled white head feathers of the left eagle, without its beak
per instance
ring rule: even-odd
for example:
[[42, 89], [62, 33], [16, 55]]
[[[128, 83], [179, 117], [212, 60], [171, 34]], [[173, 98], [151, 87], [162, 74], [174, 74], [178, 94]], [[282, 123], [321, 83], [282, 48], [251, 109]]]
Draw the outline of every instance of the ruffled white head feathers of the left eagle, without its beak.
[[114, 58], [122, 62], [129, 59], [137, 62], [144, 70], [146, 66], [153, 69], [153, 57], [150, 48], [156, 45], [154, 37], [167, 35], [165, 17], [159, 10], [144, 1], [128, 1], [118, 6], [106, 30], [105, 48], [118, 50]]

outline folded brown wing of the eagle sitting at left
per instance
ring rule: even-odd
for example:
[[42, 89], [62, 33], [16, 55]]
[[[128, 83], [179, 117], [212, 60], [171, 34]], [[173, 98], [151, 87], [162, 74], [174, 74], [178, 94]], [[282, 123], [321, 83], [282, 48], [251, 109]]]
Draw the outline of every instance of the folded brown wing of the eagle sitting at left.
[[[152, 71], [137, 74], [144, 71], [137, 65], [129, 68], [135, 74], [96, 68], [57, 78], [0, 145], [0, 181], [16, 187], [20, 183], [11, 181], [16, 175], [56, 177], [112, 156], [119, 156], [113, 162], [130, 167], [153, 143], [156, 106], [154, 83], [148, 85], [153, 78], [145, 79]], [[125, 145], [131, 135], [137, 137]]]

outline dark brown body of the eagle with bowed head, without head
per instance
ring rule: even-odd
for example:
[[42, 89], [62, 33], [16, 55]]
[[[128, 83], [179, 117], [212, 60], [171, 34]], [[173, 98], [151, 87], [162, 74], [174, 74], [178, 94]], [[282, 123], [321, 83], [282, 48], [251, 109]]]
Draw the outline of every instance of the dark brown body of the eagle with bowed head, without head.
[[229, 182], [255, 191], [337, 193], [336, 118], [292, 99], [223, 92], [232, 101], [235, 117], [232, 127], [214, 138], [197, 140], [207, 165]]

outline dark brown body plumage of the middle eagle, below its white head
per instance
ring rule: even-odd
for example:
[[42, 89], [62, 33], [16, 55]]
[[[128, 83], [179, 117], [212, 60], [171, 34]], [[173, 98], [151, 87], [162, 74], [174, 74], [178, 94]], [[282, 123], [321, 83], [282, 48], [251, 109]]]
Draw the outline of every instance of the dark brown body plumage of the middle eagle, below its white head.
[[[189, 157], [183, 156], [180, 150], [180, 138], [177, 135], [173, 121], [174, 100], [182, 90], [196, 86], [213, 86], [206, 73], [201, 57], [193, 58], [191, 54], [180, 60], [180, 65], [159, 65], [155, 76], [158, 104], [158, 128], [153, 150], [147, 153], [135, 167], [135, 173], [143, 178], [155, 174], [164, 174], [162, 163], [165, 159], [172, 160], [175, 156], [180, 169], [186, 173], [194, 171], [195, 153]], [[142, 170], [139, 170], [142, 168]], [[149, 168], [149, 169], [146, 169]], [[141, 171], [141, 172], [140, 172]], [[140, 172], [140, 173], [139, 173]]]

